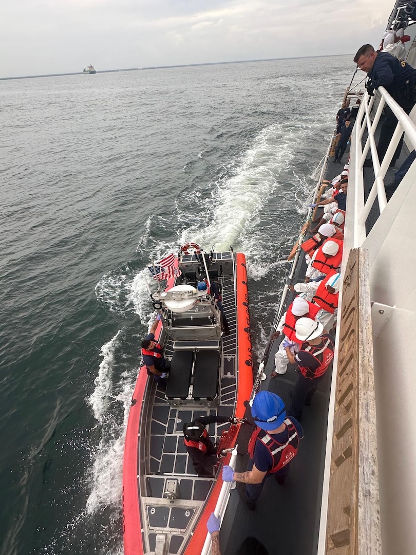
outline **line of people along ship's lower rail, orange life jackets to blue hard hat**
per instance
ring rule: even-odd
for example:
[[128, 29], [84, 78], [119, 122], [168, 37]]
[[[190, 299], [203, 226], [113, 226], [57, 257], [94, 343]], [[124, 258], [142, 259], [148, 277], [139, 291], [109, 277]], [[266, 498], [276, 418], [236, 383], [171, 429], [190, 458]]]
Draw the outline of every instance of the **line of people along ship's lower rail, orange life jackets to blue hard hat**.
[[[341, 285], [339, 270], [348, 166], [325, 184], [326, 198], [311, 205], [312, 208], [324, 206], [323, 216], [319, 216], [319, 224], [317, 229], [312, 230], [311, 238], [301, 244], [308, 261], [305, 282], [290, 286], [291, 291], [298, 295], [288, 306], [271, 337], [276, 339], [282, 335], [271, 377], [284, 374], [289, 362], [296, 364], [298, 375], [291, 393], [290, 408], [286, 409], [282, 398], [276, 393], [258, 392], [251, 407], [256, 427], [248, 443], [250, 459], [247, 470], [236, 472], [227, 465], [222, 469], [222, 480], [244, 484], [240, 493], [250, 510], [256, 508], [257, 499], [268, 478], [274, 476], [279, 485], [285, 483], [290, 462], [297, 455], [303, 438], [300, 424], [303, 406], [310, 405], [319, 382], [324, 379], [333, 360], [334, 340], [328, 331], [336, 320]], [[220, 520], [214, 513], [207, 528], [216, 545]], [[257, 548], [261, 550], [263, 546], [257, 544]]]

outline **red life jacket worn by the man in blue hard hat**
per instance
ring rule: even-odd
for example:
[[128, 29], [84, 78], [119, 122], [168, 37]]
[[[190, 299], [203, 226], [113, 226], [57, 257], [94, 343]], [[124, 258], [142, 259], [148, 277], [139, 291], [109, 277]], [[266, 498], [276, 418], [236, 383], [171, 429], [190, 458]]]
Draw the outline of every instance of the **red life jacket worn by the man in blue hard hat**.
[[248, 442], [248, 455], [250, 455], [250, 458], [253, 458], [257, 440], [262, 441], [267, 447], [273, 459], [273, 466], [271, 470], [268, 471], [268, 473], [271, 474], [282, 470], [282, 468], [297, 455], [299, 436], [296, 427], [290, 418], [286, 418], [284, 422], [288, 430], [288, 438], [285, 443], [279, 443], [268, 435], [267, 430], [262, 430], [262, 428], [258, 426], [256, 426], [255, 431], [251, 434], [250, 441]]

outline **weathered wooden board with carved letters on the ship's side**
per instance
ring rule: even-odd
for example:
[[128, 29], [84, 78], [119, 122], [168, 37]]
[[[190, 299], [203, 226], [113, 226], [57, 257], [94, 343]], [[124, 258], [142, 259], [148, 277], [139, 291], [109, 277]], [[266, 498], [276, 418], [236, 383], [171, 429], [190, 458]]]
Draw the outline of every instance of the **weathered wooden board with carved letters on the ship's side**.
[[368, 253], [344, 274], [326, 553], [381, 553]]

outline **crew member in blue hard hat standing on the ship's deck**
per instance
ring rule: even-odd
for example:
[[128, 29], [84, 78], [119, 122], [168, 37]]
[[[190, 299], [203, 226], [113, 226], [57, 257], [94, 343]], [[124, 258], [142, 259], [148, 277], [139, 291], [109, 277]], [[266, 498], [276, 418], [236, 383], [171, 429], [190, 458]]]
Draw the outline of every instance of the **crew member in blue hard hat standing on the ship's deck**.
[[286, 418], [285, 403], [270, 391], [257, 393], [251, 415], [256, 428], [248, 442], [247, 471], [235, 472], [230, 466], [224, 466], [222, 480], [245, 483], [245, 501], [253, 510], [266, 478], [275, 476], [280, 485], [285, 482], [290, 461], [297, 455], [303, 438], [303, 429], [296, 418]]

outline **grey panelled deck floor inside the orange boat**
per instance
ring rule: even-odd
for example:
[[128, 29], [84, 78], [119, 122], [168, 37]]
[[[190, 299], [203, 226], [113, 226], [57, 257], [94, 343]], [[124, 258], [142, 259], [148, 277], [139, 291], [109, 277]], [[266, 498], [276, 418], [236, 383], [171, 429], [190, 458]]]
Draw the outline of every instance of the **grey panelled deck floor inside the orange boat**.
[[[168, 390], [161, 390], [154, 381], [149, 380], [148, 396], [150, 402], [149, 418], [146, 419], [146, 429], [142, 431], [146, 440], [139, 447], [140, 469], [138, 485], [142, 503], [147, 513], [144, 520], [143, 534], [145, 552], [156, 549], [156, 535], [168, 532], [168, 553], [179, 553], [190, 538], [190, 529], [194, 517], [197, 517], [209, 495], [215, 478], [197, 476], [191, 458], [184, 446], [182, 428], [185, 422], [195, 420], [200, 416], [230, 417], [235, 411], [237, 387], [237, 356], [236, 356], [236, 306], [234, 281], [230, 277], [219, 278], [222, 285], [222, 304], [229, 324], [230, 334], [219, 340], [175, 341], [169, 339], [165, 347], [165, 356], [171, 359], [178, 346], [180, 352], [189, 354], [204, 352], [204, 359], [210, 360], [207, 353], [218, 357], [220, 350], [220, 377], [218, 406], [204, 406], [204, 400], [199, 403], [188, 402], [186, 398], [179, 401], [178, 406], [172, 405]], [[172, 322], [175, 326], [175, 322]], [[186, 319], [181, 319], [181, 325], [187, 325]], [[195, 321], [193, 321], [195, 325]], [[204, 369], [205, 370], [205, 369]], [[204, 372], [205, 374], [205, 372]], [[206, 387], [206, 385], [204, 385]], [[176, 387], [181, 387], [176, 383]], [[194, 396], [195, 396], [194, 381]], [[212, 386], [211, 386], [212, 387]], [[186, 395], [188, 385], [185, 386]], [[219, 440], [222, 431], [228, 430], [229, 423], [211, 424], [207, 427], [212, 440]], [[170, 485], [174, 485], [177, 495], [174, 503], [170, 503], [165, 492]], [[191, 526], [190, 526], [191, 524]], [[147, 539], [145, 539], [147, 538]]]

